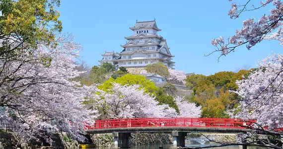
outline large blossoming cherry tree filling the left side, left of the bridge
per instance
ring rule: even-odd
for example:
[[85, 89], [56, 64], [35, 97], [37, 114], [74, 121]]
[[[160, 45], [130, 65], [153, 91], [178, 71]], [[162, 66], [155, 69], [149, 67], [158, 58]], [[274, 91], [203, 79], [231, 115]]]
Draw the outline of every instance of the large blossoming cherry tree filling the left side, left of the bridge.
[[0, 59], [0, 122], [27, 141], [48, 140], [45, 128], [83, 140], [84, 120], [92, 118], [81, 102], [94, 98], [96, 87], [70, 81], [83, 73], [74, 70], [80, 46], [70, 35], [56, 44], [38, 44], [36, 50]]

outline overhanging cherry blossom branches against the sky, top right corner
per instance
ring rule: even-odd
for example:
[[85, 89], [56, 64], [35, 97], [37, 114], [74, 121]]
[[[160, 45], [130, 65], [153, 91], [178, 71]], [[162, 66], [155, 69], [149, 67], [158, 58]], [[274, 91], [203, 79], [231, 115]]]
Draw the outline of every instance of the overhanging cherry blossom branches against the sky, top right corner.
[[[232, 0], [229, 0], [232, 1]], [[232, 2], [231, 9], [228, 15], [232, 19], [238, 18], [242, 13], [261, 9], [272, 5], [270, 14], [266, 13], [256, 21], [255, 18], [248, 18], [243, 21], [243, 27], [236, 30], [235, 35], [224, 39], [220, 36], [217, 39], [212, 39], [212, 45], [216, 47], [214, 52], [221, 52], [221, 56], [225, 56], [230, 52], [233, 52], [237, 47], [246, 45], [246, 48], [250, 50], [257, 43], [260, 43], [263, 39], [279, 40], [280, 44], [283, 43], [283, 3], [281, 0], [264, 0], [258, 1], [258, 3], [252, 4], [251, 0], [246, 0], [244, 4], [237, 4]], [[212, 54], [211, 53], [211, 54]], [[220, 58], [219, 57], [219, 58]]]

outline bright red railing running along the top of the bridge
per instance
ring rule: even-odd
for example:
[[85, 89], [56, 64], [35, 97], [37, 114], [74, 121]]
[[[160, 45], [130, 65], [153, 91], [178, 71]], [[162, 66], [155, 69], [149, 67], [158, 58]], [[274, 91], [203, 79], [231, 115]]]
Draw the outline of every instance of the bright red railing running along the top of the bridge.
[[125, 128], [125, 127], [217, 127], [241, 128], [255, 121], [222, 118], [131, 118], [96, 120], [86, 129]]

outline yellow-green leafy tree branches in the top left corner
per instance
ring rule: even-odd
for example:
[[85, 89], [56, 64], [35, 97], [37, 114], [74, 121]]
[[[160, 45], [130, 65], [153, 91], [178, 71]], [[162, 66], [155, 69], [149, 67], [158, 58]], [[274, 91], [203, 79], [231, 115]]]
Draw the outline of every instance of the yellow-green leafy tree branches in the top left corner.
[[[1, 0], [0, 56], [15, 57], [15, 50], [33, 50], [38, 43], [56, 46], [55, 36], [62, 31], [62, 22], [55, 7], [60, 0]], [[11, 46], [13, 37], [16, 46]], [[24, 45], [24, 46], [22, 46]]]

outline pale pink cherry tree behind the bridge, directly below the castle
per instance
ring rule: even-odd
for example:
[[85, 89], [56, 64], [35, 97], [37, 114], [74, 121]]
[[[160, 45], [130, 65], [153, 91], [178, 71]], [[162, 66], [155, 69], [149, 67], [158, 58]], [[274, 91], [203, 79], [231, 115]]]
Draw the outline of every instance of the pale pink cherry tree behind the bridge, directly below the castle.
[[113, 83], [110, 91], [101, 91], [101, 106], [106, 105], [104, 118], [174, 117], [177, 112], [168, 105], [158, 105], [154, 97], [144, 93], [140, 85]]

